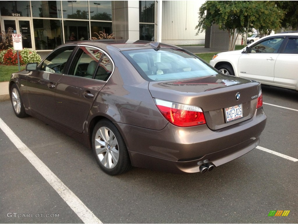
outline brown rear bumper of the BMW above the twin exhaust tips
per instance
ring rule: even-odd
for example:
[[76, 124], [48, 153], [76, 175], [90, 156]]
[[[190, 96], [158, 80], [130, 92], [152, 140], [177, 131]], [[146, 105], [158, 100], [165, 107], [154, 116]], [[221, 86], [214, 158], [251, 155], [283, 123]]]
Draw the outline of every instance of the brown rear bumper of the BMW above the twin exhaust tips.
[[168, 124], [161, 131], [116, 125], [122, 132], [133, 166], [193, 173], [199, 172], [203, 163], [219, 166], [257, 147], [266, 115], [263, 108], [259, 108], [251, 119], [217, 131], [207, 125], [179, 128]]

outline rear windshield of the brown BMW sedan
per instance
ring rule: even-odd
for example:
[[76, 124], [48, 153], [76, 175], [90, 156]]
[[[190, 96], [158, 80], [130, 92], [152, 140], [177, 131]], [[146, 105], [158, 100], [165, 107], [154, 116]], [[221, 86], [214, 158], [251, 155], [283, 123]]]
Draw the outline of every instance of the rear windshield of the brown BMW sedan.
[[181, 49], [140, 49], [122, 51], [141, 76], [147, 81], [212, 76], [218, 72], [200, 59]]

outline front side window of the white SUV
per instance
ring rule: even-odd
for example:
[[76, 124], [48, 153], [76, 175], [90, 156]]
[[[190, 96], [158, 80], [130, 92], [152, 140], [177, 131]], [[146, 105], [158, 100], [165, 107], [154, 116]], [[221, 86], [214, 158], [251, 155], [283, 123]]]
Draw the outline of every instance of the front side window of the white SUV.
[[265, 39], [252, 46], [249, 53], [277, 53], [283, 40], [283, 37]]

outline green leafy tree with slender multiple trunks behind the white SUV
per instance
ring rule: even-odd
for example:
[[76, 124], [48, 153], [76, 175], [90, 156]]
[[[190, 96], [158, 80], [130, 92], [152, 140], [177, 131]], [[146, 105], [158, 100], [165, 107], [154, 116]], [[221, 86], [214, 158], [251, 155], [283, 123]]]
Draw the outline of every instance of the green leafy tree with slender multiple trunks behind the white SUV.
[[[197, 34], [212, 24], [229, 34], [229, 50], [234, 49], [239, 34], [252, 28], [268, 35], [280, 26], [283, 12], [273, 1], [206, 1], [199, 9]], [[237, 30], [237, 34], [235, 33]]]

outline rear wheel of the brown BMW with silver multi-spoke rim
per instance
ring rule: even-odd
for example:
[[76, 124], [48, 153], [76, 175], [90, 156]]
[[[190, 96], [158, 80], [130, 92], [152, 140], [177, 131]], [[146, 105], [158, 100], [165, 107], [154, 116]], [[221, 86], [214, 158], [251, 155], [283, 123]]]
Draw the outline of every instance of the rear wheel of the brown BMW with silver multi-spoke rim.
[[119, 175], [131, 168], [125, 142], [116, 126], [109, 120], [101, 120], [95, 125], [92, 148], [98, 165], [105, 173]]

